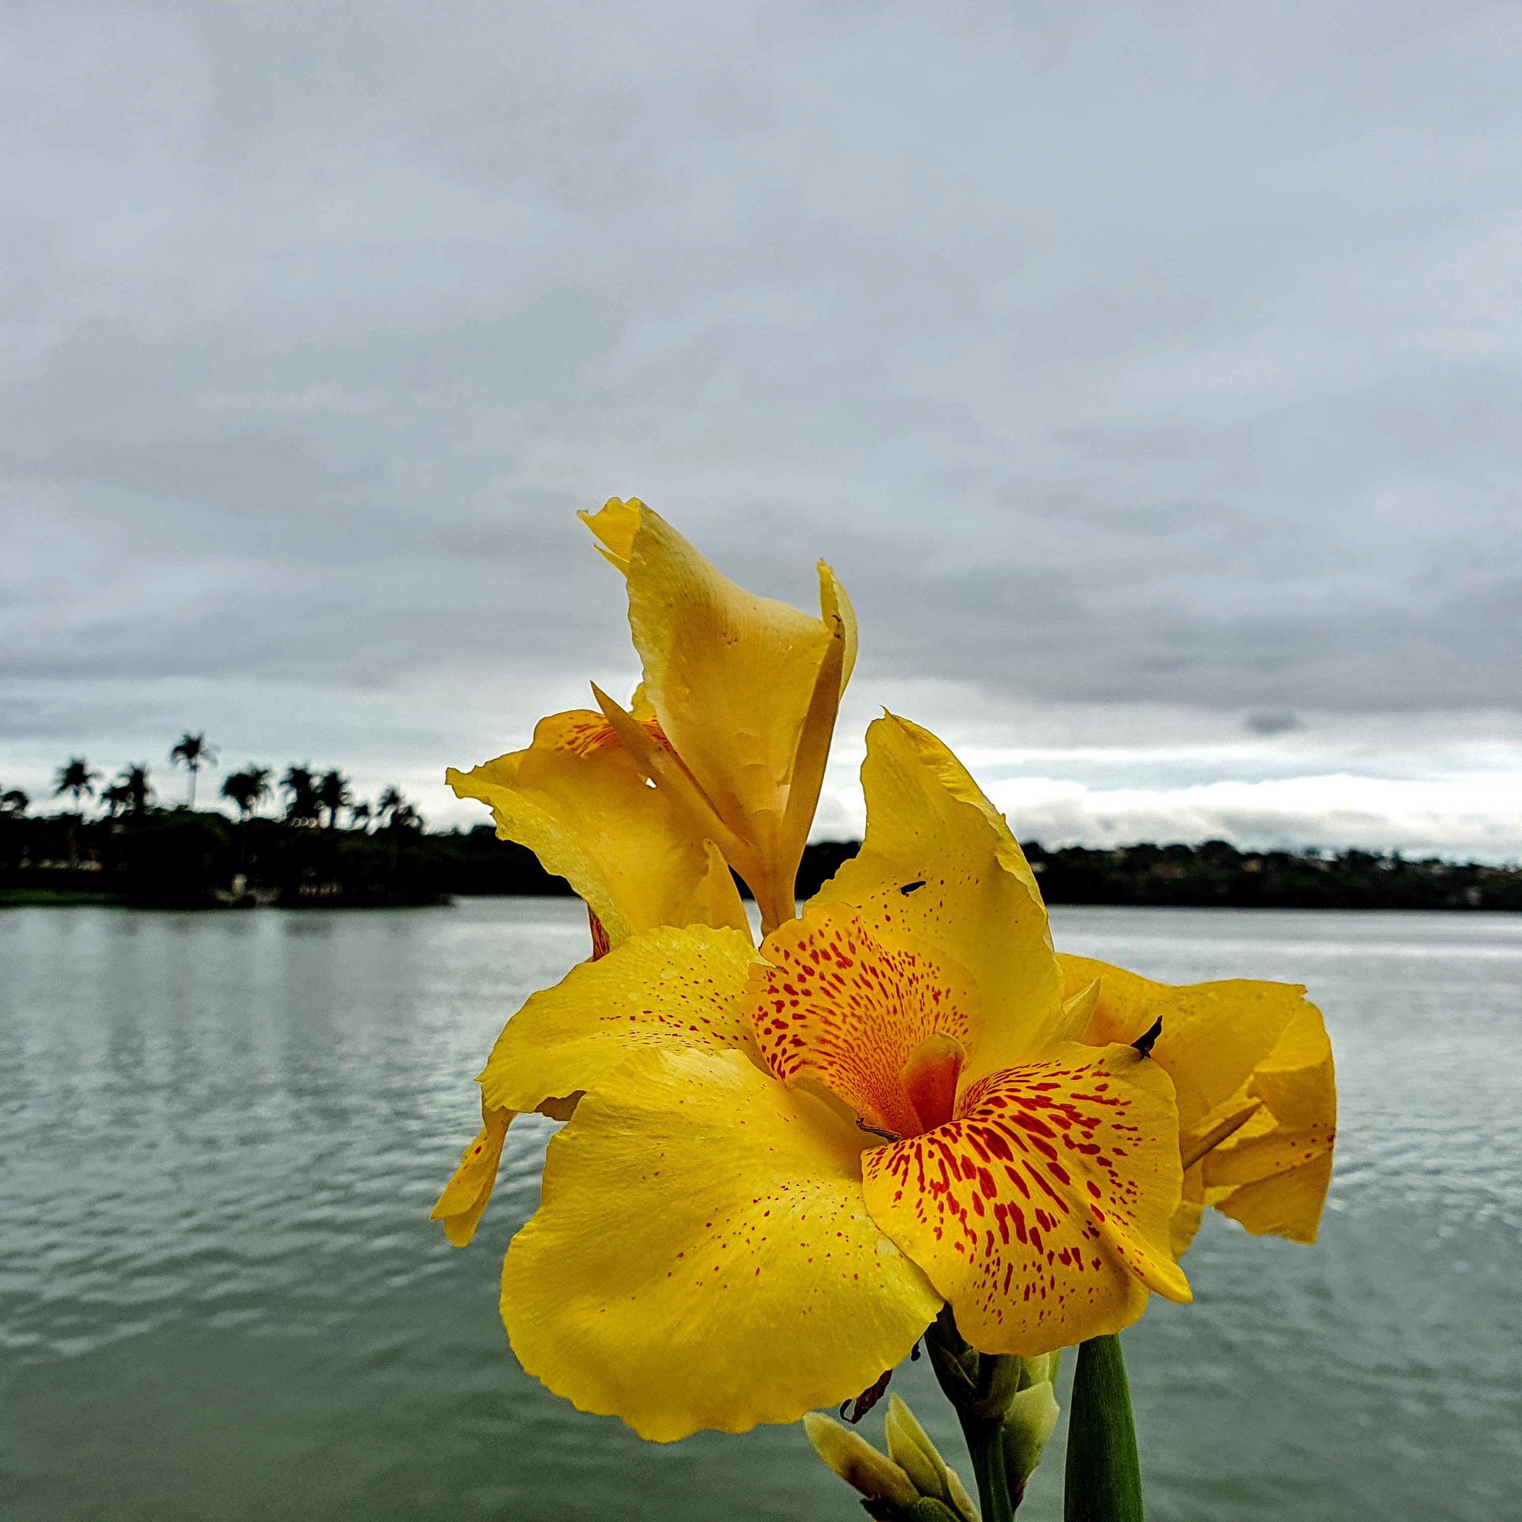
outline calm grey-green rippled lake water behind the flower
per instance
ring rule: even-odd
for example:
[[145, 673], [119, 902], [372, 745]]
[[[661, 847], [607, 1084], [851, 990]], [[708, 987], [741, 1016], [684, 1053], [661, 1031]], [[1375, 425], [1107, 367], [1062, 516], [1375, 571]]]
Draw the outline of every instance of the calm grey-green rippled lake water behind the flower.
[[[1126, 1333], [1152, 1522], [1522, 1516], [1522, 916], [1052, 918], [1154, 977], [1304, 982], [1336, 1047], [1321, 1242], [1212, 1218], [1195, 1304]], [[565, 900], [0, 912], [6, 1522], [860, 1517], [796, 1426], [642, 1444], [517, 1370], [548, 1122], [470, 1248], [423, 1219], [498, 1027], [584, 950]], [[893, 1388], [968, 1475], [925, 1365]]]

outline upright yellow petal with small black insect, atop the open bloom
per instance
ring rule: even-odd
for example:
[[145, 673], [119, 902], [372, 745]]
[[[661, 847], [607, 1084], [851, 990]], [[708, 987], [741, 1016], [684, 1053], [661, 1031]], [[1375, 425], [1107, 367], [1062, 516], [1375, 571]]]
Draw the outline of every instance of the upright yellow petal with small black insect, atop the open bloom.
[[1062, 974], [1018, 842], [928, 731], [887, 715], [866, 732], [866, 840], [814, 904], [849, 904], [874, 935], [912, 936], [965, 968], [982, 1030], [963, 1084], [1065, 1033]]

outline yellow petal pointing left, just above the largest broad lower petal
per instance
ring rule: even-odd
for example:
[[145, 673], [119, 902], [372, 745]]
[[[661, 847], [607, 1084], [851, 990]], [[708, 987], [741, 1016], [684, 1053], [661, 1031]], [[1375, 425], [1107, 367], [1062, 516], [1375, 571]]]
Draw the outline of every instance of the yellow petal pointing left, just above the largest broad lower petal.
[[486, 1103], [537, 1110], [598, 1085], [644, 1047], [738, 1050], [759, 1065], [746, 983], [756, 960], [738, 930], [647, 930], [580, 962], [502, 1027], [481, 1073]]

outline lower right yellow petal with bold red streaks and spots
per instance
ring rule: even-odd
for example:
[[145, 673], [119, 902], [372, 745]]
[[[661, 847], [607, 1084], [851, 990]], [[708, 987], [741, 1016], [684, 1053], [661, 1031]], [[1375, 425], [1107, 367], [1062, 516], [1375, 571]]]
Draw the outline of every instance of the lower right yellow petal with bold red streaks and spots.
[[874, 1219], [982, 1353], [1119, 1332], [1149, 1291], [1190, 1298], [1169, 1250], [1181, 1169], [1167, 1075], [1129, 1047], [1058, 1052], [965, 1091], [950, 1125], [863, 1157]]

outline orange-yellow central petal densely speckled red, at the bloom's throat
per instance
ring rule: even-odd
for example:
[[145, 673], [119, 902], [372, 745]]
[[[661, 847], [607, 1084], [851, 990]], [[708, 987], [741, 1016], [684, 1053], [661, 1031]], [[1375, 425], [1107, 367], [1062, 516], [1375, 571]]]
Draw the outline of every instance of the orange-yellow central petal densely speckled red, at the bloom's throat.
[[843, 906], [773, 931], [752, 973], [756, 1044], [784, 1084], [814, 1078], [872, 1126], [921, 1131], [901, 1071], [942, 1032], [963, 1049], [977, 1023], [965, 971], [903, 931], [871, 931]]

